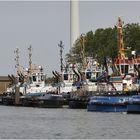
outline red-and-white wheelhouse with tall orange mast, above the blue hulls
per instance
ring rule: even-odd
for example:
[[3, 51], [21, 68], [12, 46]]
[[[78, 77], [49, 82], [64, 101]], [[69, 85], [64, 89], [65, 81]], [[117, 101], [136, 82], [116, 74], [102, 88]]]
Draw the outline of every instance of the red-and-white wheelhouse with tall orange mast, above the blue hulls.
[[[122, 89], [124, 91], [138, 91], [140, 89], [138, 79], [140, 57], [136, 51], [125, 48], [123, 43], [123, 22], [118, 18], [118, 57], [113, 60], [113, 71], [122, 78]], [[128, 52], [131, 56], [128, 57]]]

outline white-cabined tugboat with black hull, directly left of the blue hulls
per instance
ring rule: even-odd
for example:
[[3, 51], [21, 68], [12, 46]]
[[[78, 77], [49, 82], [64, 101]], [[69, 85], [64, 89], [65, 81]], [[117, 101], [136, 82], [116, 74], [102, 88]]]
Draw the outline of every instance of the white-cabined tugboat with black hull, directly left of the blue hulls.
[[[87, 58], [89, 59], [89, 58]], [[89, 96], [97, 91], [97, 78], [101, 76], [102, 69], [97, 66], [97, 61], [90, 57], [90, 65], [83, 70], [74, 69], [77, 75], [75, 87], [77, 90], [71, 92], [69, 99], [70, 108], [87, 108]]]

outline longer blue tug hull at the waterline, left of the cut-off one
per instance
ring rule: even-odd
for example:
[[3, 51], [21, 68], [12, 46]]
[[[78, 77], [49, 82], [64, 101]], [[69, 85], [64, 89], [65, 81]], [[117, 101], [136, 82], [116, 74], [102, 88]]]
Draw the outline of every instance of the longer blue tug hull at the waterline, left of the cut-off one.
[[92, 112], [126, 112], [130, 96], [92, 96], [87, 110]]

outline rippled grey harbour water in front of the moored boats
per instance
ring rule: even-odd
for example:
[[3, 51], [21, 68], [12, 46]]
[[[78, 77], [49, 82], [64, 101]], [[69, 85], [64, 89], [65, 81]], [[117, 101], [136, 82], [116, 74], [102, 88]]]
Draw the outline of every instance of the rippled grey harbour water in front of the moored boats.
[[140, 138], [140, 116], [0, 106], [0, 139]]

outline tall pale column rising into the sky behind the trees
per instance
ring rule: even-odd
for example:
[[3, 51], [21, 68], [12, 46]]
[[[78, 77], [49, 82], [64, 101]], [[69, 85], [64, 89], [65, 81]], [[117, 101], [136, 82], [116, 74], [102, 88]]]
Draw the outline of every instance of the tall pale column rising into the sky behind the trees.
[[79, 0], [71, 0], [70, 3], [70, 49], [79, 37]]

